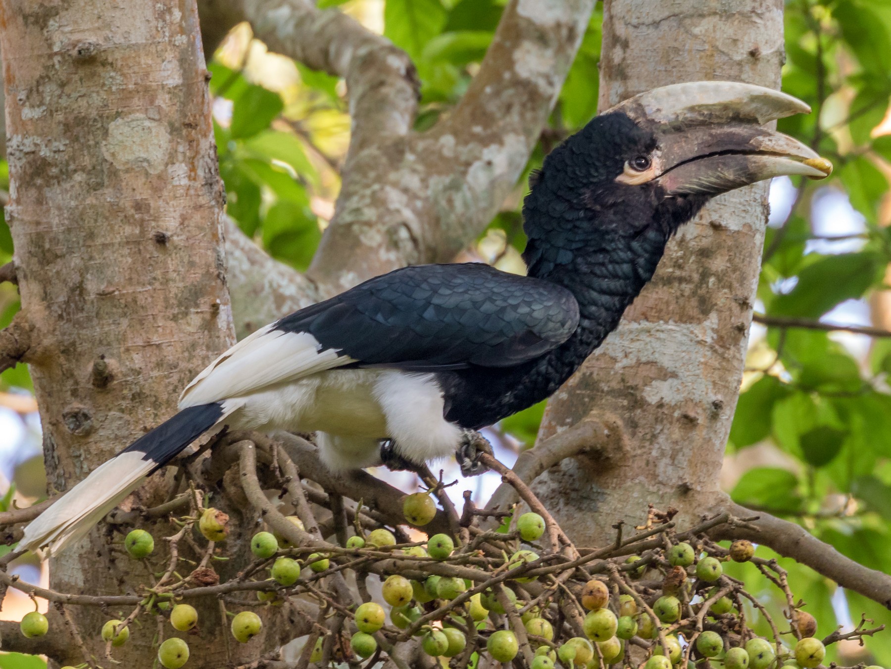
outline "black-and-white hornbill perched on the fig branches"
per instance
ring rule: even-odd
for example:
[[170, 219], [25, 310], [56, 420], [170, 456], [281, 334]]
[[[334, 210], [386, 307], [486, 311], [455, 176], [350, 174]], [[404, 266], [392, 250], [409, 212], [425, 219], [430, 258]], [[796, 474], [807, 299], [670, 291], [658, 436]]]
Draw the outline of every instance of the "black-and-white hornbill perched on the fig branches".
[[666, 242], [707, 200], [829, 161], [764, 127], [808, 112], [761, 86], [637, 95], [544, 160], [523, 206], [527, 276], [481, 264], [376, 277], [257, 330], [192, 380], [173, 418], [95, 469], [26, 529], [59, 551], [218, 425], [315, 432], [331, 469], [462, 453], [479, 428], [550, 396], [614, 330]]

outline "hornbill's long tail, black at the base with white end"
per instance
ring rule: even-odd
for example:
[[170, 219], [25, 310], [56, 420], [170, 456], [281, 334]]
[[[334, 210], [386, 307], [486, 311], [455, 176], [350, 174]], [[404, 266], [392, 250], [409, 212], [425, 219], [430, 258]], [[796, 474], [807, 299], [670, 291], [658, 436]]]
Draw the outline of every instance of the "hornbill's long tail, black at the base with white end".
[[239, 407], [232, 401], [190, 406], [103, 462], [25, 528], [19, 548], [58, 553], [84, 536], [156, 469]]

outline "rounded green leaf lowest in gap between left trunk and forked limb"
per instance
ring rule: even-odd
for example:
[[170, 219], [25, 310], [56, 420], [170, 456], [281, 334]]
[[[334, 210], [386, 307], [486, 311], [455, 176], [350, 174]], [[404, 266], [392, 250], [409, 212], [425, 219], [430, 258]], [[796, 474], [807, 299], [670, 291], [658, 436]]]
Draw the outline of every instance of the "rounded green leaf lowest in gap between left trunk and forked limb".
[[293, 200], [277, 202], [263, 219], [263, 246], [269, 254], [298, 270], [306, 270], [322, 239], [318, 221], [308, 205]]

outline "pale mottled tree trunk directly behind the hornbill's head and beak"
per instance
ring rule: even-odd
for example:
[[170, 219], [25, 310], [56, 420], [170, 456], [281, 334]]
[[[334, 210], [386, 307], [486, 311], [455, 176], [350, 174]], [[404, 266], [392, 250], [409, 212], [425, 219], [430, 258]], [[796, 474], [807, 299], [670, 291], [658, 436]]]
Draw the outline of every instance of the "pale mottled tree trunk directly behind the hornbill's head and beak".
[[[779, 87], [781, 0], [606, 0], [601, 110], [655, 86], [734, 79]], [[685, 225], [616, 332], [548, 405], [541, 437], [585, 417], [622, 421], [627, 447], [580, 456], [535, 491], [585, 546], [640, 524], [648, 502], [690, 521], [718, 474], [740, 379], [767, 219], [766, 183], [723, 195]], [[571, 523], [567, 522], [571, 518]]]

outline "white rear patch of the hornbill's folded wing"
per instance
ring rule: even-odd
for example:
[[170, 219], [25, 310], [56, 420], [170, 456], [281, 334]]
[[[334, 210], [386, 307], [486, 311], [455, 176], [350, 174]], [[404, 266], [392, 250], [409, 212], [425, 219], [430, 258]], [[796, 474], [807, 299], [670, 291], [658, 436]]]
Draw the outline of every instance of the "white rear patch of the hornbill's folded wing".
[[179, 397], [179, 408], [250, 395], [356, 362], [338, 355], [336, 349], [323, 349], [308, 332], [273, 330], [274, 325], [257, 330], [210, 363], [186, 386]]

